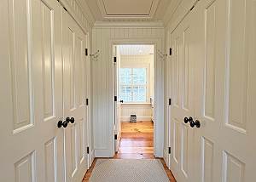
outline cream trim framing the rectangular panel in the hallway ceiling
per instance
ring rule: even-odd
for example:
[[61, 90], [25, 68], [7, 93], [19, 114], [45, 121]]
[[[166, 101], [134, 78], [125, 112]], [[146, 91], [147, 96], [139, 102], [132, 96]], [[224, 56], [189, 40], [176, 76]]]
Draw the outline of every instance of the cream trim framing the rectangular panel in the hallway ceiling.
[[153, 0], [152, 6], [148, 14], [107, 14], [104, 0], [97, 0], [98, 7], [101, 11], [102, 17], [104, 19], [154, 19], [155, 11], [159, 5], [159, 0]]

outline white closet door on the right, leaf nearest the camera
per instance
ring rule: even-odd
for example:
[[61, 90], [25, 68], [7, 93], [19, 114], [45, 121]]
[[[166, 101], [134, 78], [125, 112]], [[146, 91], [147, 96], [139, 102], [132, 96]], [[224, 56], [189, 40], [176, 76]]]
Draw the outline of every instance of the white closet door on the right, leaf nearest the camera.
[[[255, 181], [256, 1], [198, 4], [201, 180]], [[201, 30], [201, 31], [200, 31]]]

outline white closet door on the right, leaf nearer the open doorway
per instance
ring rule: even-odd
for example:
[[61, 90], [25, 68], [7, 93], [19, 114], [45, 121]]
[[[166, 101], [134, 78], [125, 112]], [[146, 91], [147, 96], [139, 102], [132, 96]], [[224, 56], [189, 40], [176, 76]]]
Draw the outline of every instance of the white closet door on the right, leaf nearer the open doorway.
[[[187, 15], [171, 35], [171, 169], [179, 182], [191, 181], [194, 178], [195, 165], [193, 162], [199, 160], [194, 156], [195, 128], [191, 127], [195, 115], [195, 48], [197, 36], [194, 13]], [[185, 117], [188, 120], [184, 122]]]

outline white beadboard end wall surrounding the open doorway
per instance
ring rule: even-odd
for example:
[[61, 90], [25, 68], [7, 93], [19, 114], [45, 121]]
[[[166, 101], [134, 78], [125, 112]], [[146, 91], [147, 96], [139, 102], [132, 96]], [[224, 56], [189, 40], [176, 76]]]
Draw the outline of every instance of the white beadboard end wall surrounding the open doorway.
[[[93, 128], [96, 156], [113, 156], [113, 44], [154, 43], [155, 50], [163, 52], [165, 31], [162, 27], [96, 26], [92, 31], [92, 53], [99, 50], [99, 57], [92, 61]], [[163, 60], [155, 55], [155, 156], [163, 151]]]

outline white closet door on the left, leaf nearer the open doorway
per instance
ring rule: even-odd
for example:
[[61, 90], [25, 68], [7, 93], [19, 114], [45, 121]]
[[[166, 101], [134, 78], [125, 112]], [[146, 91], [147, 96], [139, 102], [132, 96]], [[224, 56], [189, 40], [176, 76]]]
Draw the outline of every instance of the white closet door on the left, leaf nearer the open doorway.
[[64, 116], [70, 122], [65, 128], [66, 180], [80, 181], [88, 167], [85, 153], [87, 116], [85, 97], [84, 32], [66, 12], [62, 11], [63, 31], [63, 101]]

